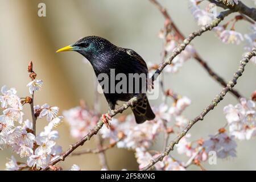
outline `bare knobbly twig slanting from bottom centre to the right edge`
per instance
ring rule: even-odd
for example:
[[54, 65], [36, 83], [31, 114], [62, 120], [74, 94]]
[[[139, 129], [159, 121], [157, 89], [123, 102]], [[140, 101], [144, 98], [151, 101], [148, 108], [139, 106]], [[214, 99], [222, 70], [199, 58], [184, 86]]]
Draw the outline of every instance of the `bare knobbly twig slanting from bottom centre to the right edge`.
[[199, 120], [202, 121], [204, 119], [205, 115], [207, 115], [207, 113], [209, 113], [210, 110], [213, 110], [214, 107], [216, 107], [217, 104], [221, 100], [223, 100], [226, 93], [228, 93], [230, 90], [232, 90], [232, 88], [237, 84], [238, 78], [242, 76], [242, 73], [245, 70], [246, 64], [249, 62], [251, 57], [253, 57], [255, 55], [256, 55], [255, 48], [251, 52], [246, 53], [245, 57], [243, 57], [243, 59], [240, 61], [240, 67], [238, 68], [238, 71], [236, 73], [234, 73], [233, 79], [231, 81], [229, 81], [229, 83], [226, 85], [226, 87], [224, 89], [222, 89], [222, 92], [220, 94], [218, 94], [213, 99], [212, 104], [210, 104], [208, 107], [206, 107], [203, 110], [203, 112], [200, 115], [198, 115], [195, 119], [189, 121], [189, 123], [185, 127], [185, 129], [183, 129], [183, 131], [181, 131], [181, 133], [179, 135], [177, 135], [177, 137], [174, 140], [172, 140], [172, 142], [169, 144], [169, 146], [166, 148], [166, 150], [163, 152], [163, 154], [161, 154], [157, 158], [151, 160], [151, 163], [148, 164], [146, 167], [144, 167], [142, 170], [150, 169], [152, 166], [154, 166], [154, 164], [156, 164], [159, 161], [162, 161], [165, 156], [167, 156], [172, 150], [174, 150], [175, 144], [179, 143], [179, 140], [187, 134], [188, 130], [190, 130], [191, 127], [193, 125], [195, 125], [195, 123], [197, 121], [199, 121]]

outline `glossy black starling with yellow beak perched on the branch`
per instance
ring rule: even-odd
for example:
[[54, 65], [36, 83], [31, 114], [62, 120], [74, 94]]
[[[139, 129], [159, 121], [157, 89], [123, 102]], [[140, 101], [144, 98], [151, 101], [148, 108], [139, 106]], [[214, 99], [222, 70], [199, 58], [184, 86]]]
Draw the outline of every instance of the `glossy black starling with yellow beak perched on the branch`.
[[[110, 69], [115, 69], [115, 75], [118, 73], [124, 73], [127, 78], [129, 73], [148, 74], [147, 64], [142, 57], [138, 55], [138, 53], [131, 49], [117, 47], [108, 40], [98, 36], [87, 36], [78, 40], [71, 46], [59, 49], [57, 52], [63, 51], [76, 51], [86, 57], [86, 59], [90, 61], [90, 64], [92, 64], [97, 78], [100, 73], [106, 73], [110, 76]], [[98, 81], [100, 82], [101, 80]], [[115, 81], [115, 85], [116, 84], [117, 81]], [[138, 100], [135, 106], [131, 107], [137, 123], [143, 123], [146, 120], [152, 120], [155, 118], [155, 114], [147, 100], [146, 93], [142, 92], [142, 85], [143, 82], [140, 80], [139, 94], [142, 94], [142, 97]], [[127, 84], [127, 88], [128, 87], [129, 85]], [[103, 87], [102, 89], [104, 90]], [[114, 93], [107, 93], [105, 91], [106, 90], [104, 90], [104, 95], [111, 110], [115, 109], [117, 101], [129, 101], [138, 94], [134, 92], [117, 93], [116, 91], [114, 91]], [[109, 121], [105, 121], [104, 123], [109, 127]]]

